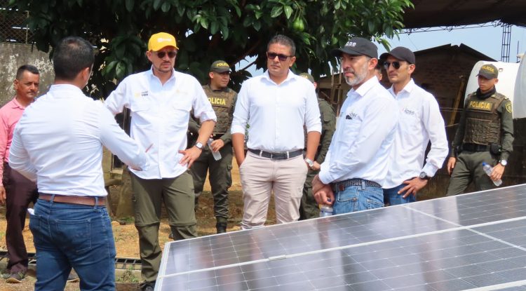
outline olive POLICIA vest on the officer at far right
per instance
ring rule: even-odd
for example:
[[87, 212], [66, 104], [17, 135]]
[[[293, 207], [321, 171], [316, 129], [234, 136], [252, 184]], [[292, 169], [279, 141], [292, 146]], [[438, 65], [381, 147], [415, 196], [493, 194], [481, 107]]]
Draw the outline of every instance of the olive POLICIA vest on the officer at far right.
[[484, 100], [478, 98], [476, 93], [471, 93], [468, 96], [464, 143], [500, 144], [501, 116], [497, 109], [505, 98], [499, 93], [494, 93]]

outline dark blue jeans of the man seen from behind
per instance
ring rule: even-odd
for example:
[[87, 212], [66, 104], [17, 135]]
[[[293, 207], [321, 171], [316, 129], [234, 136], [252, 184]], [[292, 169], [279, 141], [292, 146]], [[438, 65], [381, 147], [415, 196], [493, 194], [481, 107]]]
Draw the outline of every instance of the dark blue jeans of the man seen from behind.
[[34, 290], [64, 290], [72, 267], [81, 290], [115, 290], [115, 243], [104, 206], [39, 199], [29, 229], [36, 248]]

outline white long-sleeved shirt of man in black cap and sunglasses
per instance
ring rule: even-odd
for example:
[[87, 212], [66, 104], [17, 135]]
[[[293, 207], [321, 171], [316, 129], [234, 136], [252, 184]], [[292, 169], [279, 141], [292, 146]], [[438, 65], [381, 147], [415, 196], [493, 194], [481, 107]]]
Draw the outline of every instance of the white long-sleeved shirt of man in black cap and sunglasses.
[[[435, 97], [417, 86], [411, 79], [395, 95], [393, 87], [389, 93], [398, 104], [398, 126], [391, 149], [391, 161], [384, 188], [394, 188], [405, 180], [419, 177], [426, 172], [433, 177], [442, 168], [449, 152], [445, 135], [444, 119]], [[431, 150], [424, 156], [427, 144], [431, 141]]]

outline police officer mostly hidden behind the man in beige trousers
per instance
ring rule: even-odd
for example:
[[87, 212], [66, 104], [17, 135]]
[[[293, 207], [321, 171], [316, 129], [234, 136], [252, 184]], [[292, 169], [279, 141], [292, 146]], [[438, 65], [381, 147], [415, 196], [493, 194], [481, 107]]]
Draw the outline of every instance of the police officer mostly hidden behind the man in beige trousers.
[[[318, 83], [314, 81], [313, 76], [307, 73], [299, 74], [299, 76], [309, 79], [314, 84], [314, 88], [318, 87]], [[335, 109], [330, 106], [327, 100], [318, 97], [318, 106], [320, 107], [320, 118], [321, 118], [321, 137], [320, 144], [314, 156], [312, 165], [309, 165], [310, 169], [307, 172], [305, 184], [303, 185], [302, 201], [299, 203], [299, 220], [316, 218], [320, 215], [318, 203], [312, 196], [312, 179], [318, 172], [320, 172], [320, 164], [325, 161], [325, 155], [329, 150], [330, 141], [332, 135], [335, 133], [336, 126], [336, 114]], [[306, 136], [306, 135], [305, 135]]]

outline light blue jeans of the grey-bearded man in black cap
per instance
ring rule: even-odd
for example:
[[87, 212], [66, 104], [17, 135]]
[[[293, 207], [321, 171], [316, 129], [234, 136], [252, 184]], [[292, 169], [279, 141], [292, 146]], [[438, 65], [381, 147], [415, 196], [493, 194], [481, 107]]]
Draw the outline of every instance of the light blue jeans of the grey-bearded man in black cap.
[[384, 207], [384, 192], [379, 187], [349, 186], [335, 192], [334, 214]]

